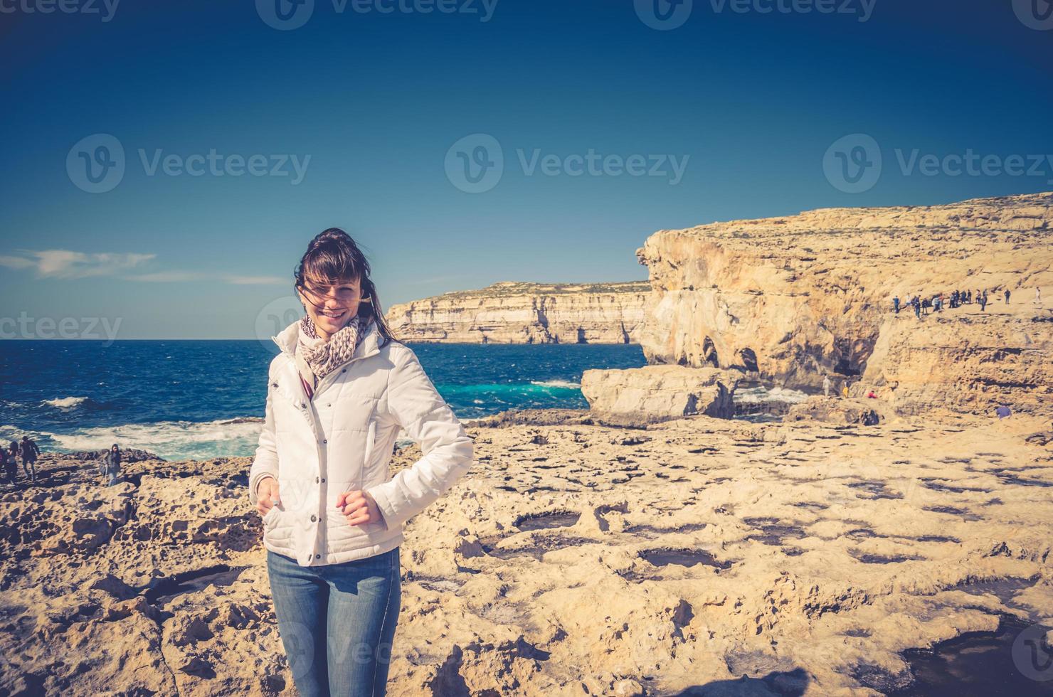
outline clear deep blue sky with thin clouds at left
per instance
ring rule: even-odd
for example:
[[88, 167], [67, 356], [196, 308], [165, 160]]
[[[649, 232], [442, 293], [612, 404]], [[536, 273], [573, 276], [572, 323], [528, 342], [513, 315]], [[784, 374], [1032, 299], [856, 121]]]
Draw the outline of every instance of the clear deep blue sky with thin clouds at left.
[[276, 1], [0, 0], [0, 319], [253, 338], [332, 225], [390, 305], [645, 279], [661, 228], [1053, 190], [1031, 0]]

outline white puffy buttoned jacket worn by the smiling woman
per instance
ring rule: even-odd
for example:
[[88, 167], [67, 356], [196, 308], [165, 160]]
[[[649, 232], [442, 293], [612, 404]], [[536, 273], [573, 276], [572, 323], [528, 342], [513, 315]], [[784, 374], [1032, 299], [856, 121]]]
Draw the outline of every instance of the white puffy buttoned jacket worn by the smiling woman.
[[[444, 494], [472, 466], [472, 440], [412, 348], [388, 341], [370, 322], [352, 358], [319, 381], [313, 399], [300, 384], [294, 352], [299, 322], [274, 337], [266, 419], [249, 474], [249, 497], [270, 475], [280, 502], [263, 516], [263, 545], [301, 566], [388, 552], [402, 524]], [[423, 456], [388, 477], [399, 429]], [[352, 525], [336, 507], [343, 492], [373, 495], [383, 521]]]

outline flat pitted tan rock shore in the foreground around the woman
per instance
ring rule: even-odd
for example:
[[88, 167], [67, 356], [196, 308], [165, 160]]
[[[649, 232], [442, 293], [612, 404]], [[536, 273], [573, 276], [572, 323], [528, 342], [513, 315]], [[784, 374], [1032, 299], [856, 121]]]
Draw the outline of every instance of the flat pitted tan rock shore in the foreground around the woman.
[[[903, 652], [999, 625], [1022, 686], [1050, 684], [1028, 663], [1053, 639], [1049, 421], [810, 401], [473, 422], [472, 471], [406, 530], [390, 694], [894, 694]], [[0, 494], [0, 693], [295, 694], [247, 458], [144, 459], [113, 487], [40, 464]]]

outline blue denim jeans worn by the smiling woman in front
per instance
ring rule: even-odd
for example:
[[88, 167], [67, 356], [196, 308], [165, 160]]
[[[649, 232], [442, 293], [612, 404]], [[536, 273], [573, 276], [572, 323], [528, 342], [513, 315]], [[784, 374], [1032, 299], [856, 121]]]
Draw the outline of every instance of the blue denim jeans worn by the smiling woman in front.
[[401, 606], [399, 547], [300, 566], [267, 550], [267, 575], [293, 681], [302, 697], [386, 694]]

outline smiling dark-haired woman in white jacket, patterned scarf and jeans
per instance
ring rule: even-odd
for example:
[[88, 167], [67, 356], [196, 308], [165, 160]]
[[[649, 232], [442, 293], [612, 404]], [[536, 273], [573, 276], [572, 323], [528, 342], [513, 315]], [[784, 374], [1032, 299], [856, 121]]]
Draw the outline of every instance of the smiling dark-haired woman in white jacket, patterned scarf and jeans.
[[[306, 316], [274, 337], [249, 476], [297, 690], [383, 695], [401, 606], [402, 525], [472, 465], [472, 440], [383, 318], [370, 265], [330, 228], [300, 259]], [[400, 429], [420, 444], [388, 477]]]

